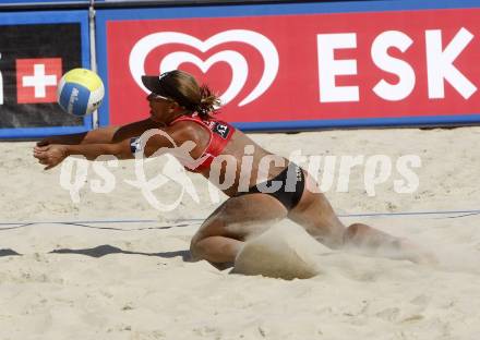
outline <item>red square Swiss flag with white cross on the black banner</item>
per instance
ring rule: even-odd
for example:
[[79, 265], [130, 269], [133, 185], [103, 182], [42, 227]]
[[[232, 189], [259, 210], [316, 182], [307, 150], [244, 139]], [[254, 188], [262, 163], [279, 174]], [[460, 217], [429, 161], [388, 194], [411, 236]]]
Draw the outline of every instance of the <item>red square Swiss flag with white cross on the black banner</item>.
[[19, 104], [55, 102], [62, 76], [61, 58], [16, 59]]

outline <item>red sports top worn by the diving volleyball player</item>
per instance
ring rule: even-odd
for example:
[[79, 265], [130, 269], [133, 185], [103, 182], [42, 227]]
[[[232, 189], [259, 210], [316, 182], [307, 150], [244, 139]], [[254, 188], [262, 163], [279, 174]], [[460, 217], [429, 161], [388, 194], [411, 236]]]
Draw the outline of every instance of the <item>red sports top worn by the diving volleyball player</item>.
[[[178, 122], [190, 121], [205, 127], [209, 133], [208, 144], [202, 155], [191, 163], [182, 162], [183, 166], [194, 172], [200, 172], [209, 168], [215, 157], [221, 154], [228, 141], [233, 135], [235, 127], [227, 122], [219, 121], [215, 118], [202, 119], [197, 113], [192, 116], [181, 116], [173, 120], [169, 125], [173, 125]], [[181, 160], [180, 160], [181, 161]]]

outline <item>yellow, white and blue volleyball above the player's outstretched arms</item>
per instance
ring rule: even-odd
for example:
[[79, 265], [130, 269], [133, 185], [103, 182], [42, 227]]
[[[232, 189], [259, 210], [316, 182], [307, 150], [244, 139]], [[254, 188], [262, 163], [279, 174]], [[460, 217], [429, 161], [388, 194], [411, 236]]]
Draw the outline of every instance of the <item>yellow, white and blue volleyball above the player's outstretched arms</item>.
[[98, 109], [104, 95], [104, 82], [98, 74], [87, 69], [70, 70], [63, 74], [57, 87], [60, 107], [65, 112], [79, 117]]

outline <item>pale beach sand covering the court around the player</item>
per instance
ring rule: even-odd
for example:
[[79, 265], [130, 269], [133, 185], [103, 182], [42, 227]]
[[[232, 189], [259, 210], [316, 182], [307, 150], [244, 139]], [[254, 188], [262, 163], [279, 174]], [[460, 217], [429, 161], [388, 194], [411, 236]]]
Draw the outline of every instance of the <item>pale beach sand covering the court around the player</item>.
[[[480, 208], [480, 127], [253, 137], [284, 156], [295, 149], [394, 160], [420, 156], [415, 193], [393, 190], [394, 180], [401, 179], [394, 169], [376, 195], [368, 196], [364, 167], [358, 167], [348, 193], [326, 193], [338, 214]], [[478, 339], [480, 216], [343, 218], [417, 240], [435, 252], [437, 267], [331, 252], [303, 239], [302, 254], [315, 257], [314, 278], [231, 275], [184, 260], [197, 219], [218, 205], [209, 202], [200, 177], [190, 177], [200, 204], [185, 195], [178, 209], [160, 214], [123, 182], [135, 179], [132, 161], [112, 169], [117, 183], [108, 194], [88, 189], [99, 179], [89, 168], [74, 204], [59, 184], [60, 168], [44, 172], [32, 157], [33, 145], [0, 144], [0, 221], [44, 221], [0, 226], [2, 340]], [[159, 163], [149, 163], [148, 173], [157, 173]], [[175, 201], [178, 186], [169, 182], [155, 195]], [[156, 222], [52, 223], [127, 219]], [[169, 228], [183, 219], [193, 220]], [[22, 256], [7, 256], [8, 250]], [[59, 250], [63, 253], [50, 253]]]

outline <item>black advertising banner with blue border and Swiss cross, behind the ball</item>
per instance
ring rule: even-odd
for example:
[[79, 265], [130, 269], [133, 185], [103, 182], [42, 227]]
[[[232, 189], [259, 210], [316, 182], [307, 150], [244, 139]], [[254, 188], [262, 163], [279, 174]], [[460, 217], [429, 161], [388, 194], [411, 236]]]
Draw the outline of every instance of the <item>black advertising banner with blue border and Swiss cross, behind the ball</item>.
[[0, 14], [7, 16], [0, 25], [0, 137], [89, 130], [91, 119], [67, 114], [57, 104], [62, 74], [88, 61], [82, 46], [87, 12]]

